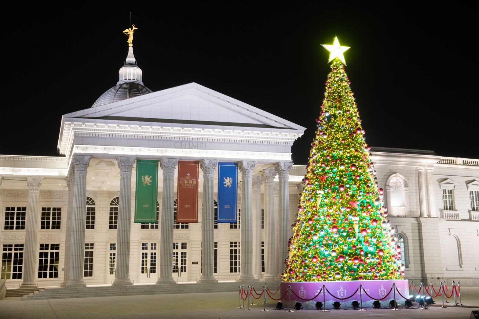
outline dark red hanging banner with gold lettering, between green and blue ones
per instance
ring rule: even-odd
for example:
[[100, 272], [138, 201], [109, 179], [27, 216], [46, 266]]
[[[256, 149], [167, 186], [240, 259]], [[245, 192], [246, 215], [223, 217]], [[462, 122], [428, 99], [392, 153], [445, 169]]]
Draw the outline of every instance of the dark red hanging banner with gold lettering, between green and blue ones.
[[198, 222], [199, 162], [178, 161], [178, 204], [176, 222]]

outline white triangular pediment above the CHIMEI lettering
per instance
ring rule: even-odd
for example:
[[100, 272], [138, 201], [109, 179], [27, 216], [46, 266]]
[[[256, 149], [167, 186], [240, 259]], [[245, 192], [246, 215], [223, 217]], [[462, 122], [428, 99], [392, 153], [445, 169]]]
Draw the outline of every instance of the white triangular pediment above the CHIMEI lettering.
[[174, 127], [305, 128], [196, 83], [65, 114], [65, 121]]

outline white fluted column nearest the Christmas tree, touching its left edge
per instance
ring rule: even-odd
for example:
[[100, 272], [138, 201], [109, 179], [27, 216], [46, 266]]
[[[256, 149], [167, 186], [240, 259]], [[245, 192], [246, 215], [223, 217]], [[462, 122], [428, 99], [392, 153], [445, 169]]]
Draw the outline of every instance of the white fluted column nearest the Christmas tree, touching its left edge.
[[[279, 231], [278, 231], [278, 252], [277, 263], [278, 265], [283, 265], [283, 261], [288, 255], [287, 253], [287, 242], [290, 237], [289, 230], [289, 171], [293, 163], [282, 163], [278, 162], [274, 165], [276, 172], [278, 172], [279, 179], [279, 196], [278, 196], [278, 221], [279, 221]], [[281, 272], [277, 274], [278, 278], [281, 278]]]

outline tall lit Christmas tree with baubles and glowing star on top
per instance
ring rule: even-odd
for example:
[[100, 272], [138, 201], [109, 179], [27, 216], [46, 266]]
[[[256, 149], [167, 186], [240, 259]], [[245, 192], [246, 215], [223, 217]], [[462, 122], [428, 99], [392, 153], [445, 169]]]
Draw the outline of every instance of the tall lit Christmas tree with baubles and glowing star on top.
[[403, 279], [383, 190], [335, 37], [316, 138], [288, 241], [284, 282]]

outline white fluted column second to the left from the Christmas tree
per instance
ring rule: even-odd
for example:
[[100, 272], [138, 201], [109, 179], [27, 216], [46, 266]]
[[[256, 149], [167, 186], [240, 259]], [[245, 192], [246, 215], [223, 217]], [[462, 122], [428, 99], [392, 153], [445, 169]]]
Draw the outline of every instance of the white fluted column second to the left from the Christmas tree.
[[274, 197], [273, 185], [276, 171], [268, 168], [261, 172], [264, 183], [264, 281], [276, 278], [276, 239], [274, 225]]

